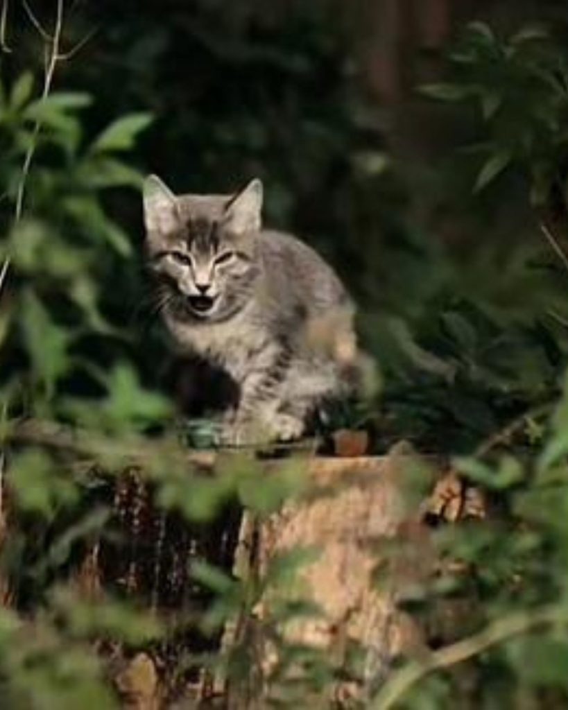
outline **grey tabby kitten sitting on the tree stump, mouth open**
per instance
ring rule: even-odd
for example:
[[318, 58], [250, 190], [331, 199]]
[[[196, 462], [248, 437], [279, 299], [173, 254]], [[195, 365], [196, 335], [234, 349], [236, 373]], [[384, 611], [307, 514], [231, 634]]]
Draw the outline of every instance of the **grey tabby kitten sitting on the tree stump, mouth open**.
[[329, 400], [345, 398], [356, 361], [354, 305], [310, 246], [263, 229], [263, 185], [176, 196], [143, 185], [146, 255], [175, 348], [236, 385], [222, 442], [288, 441]]

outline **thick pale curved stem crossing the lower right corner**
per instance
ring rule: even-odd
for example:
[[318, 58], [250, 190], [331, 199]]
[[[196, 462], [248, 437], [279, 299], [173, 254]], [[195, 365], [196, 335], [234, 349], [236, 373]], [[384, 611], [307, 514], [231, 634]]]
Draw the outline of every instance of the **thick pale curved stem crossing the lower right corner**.
[[515, 612], [493, 621], [483, 631], [441, 648], [422, 662], [413, 662], [396, 672], [373, 699], [371, 708], [388, 710], [400, 701], [413, 685], [433, 671], [456, 665], [514, 636], [540, 626], [551, 626], [557, 623], [568, 623], [566, 605], [551, 605], [535, 611]]

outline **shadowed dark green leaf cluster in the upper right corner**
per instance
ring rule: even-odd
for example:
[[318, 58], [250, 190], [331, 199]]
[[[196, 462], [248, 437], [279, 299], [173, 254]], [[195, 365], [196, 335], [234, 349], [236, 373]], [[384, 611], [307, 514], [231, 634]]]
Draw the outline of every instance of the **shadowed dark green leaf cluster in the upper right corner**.
[[486, 155], [475, 190], [509, 165], [528, 174], [531, 200], [547, 205], [562, 189], [568, 133], [568, 56], [564, 45], [540, 27], [501, 40], [484, 23], [471, 23], [449, 55], [454, 82], [422, 88], [446, 102], [469, 100], [488, 126], [489, 139], [469, 150]]

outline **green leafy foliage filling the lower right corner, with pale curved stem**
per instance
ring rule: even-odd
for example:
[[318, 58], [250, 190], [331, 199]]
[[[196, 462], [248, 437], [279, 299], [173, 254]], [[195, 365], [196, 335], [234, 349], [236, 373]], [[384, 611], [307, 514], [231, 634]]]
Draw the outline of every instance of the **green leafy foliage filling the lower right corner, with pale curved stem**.
[[[559, 422], [567, 401], [564, 388], [553, 422]], [[395, 672], [373, 706], [449, 706], [463, 678], [474, 682], [481, 707], [509, 704], [519, 694], [523, 701], [538, 704], [550, 691], [554, 706], [566, 704], [568, 467], [565, 457], [559, 463], [547, 456], [562, 449], [563, 438], [553, 423], [541, 447], [530, 455], [504, 454], [493, 464], [455, 462], [471, 483], [497, 496], [494, 500], [503, 510], [493, 520], [439, 528], [434, 537], [437, 553], [442, 560], [459, 560], [461, 571], [442, 567], [437, 578], [414, 594], [422, 618], [440, 603], [443, 608], [444, 600], [474, 599], [465, 624], [471, 626], [470, 633], [426, 658], [423, 666], [417, 662]], [[445, 662], [438, 665], [438, 659]], [[465, 661], [461, 672], [454, 670], [458, 660]], [[437, 667], [439, 677], [427, 680]]]

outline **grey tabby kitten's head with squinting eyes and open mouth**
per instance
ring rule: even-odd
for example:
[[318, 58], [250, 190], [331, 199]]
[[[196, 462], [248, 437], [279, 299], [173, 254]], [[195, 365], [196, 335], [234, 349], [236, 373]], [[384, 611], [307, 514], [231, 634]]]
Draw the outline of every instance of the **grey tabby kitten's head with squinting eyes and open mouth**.
[[146, 178], [146, 253], [162, 307], [218, 322], [246, 305], [259, 273], [262, 197], [256, 179], [236, 195], [174, 195], [160, 178]]

